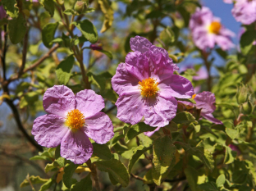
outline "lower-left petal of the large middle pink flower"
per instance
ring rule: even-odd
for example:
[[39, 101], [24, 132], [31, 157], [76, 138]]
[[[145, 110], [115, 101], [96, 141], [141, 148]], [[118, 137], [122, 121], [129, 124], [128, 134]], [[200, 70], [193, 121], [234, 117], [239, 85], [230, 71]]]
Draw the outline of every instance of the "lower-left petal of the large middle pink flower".
[[145, 113], [144, 99], [140, 91], [124, 92], [117, 99], [117, 118], [126, 123], [139, 123]]

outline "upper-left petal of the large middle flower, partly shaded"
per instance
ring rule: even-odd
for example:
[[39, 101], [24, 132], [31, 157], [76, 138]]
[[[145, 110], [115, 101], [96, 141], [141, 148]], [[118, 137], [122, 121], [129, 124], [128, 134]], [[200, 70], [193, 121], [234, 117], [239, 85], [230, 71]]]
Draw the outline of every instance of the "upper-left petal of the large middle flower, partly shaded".
[[115, 92], [121, 95], [124, 91], [136, 91], [139, 90], [139, 79], [131, 75], [126, 69], [126, 64], [121, 63], [117, 67], [116, 75], [112, 77], [112, 88]]

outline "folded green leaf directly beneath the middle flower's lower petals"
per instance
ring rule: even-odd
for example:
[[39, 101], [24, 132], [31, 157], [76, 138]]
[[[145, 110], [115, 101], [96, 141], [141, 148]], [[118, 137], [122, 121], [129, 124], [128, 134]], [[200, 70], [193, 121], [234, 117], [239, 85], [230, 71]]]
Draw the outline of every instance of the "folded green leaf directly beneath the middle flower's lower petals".
[[135, 138], [138, 134], [147, 131], [153, 131], [156, 128], [151, 127], [149, 125], [140, 122], [136, 125], [125, 125], [124, 127], [124, 134], [125, 134], [125, 142], [129, 143], [131, 139]]

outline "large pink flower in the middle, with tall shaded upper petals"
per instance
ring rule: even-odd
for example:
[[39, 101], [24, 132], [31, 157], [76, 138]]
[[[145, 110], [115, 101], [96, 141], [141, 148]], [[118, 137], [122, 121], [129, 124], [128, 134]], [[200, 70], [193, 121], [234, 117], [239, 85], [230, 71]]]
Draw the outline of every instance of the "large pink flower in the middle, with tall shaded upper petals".
[[168, 125], [176, 116], [176, 98], [191, 98], [193, 86], [173, 75], [178, 67], [163, 48], [139, 36], [130, 39], [130, 48], [134, 52], [127, 54], [126, 63], [119, 64], [112, 78], [112, 87], [119, 94], [117, 118], [135, 125], [144, 116], [145, 124]]

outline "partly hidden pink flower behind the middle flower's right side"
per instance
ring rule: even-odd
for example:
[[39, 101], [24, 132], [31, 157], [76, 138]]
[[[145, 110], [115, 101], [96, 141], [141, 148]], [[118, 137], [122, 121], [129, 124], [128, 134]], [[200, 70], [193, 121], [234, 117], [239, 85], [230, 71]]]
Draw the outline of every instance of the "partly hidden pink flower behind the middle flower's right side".
[[183, 103], [187, 107], [196, 107], [197, 109], [201, 109], [200, 116], [211, 121], [215, 124], [222, 124], [222, 121], [217, 120], [213, 116], [213, 111], [216, 110], [215, 106], [215, 96], [214, 93], [211, 92], [202, 92], [193, 95], [194, 101], [196, 104], [191, 102], [179, 101]]

